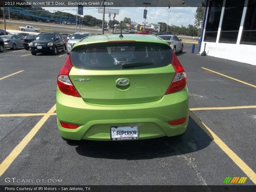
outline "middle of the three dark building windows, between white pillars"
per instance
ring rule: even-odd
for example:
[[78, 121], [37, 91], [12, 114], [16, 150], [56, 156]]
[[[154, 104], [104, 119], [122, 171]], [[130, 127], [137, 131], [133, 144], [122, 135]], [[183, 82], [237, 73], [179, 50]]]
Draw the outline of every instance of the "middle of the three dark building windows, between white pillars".
[[236, 43], [244, 11], [245, 0], [226, 0], [220, 31], [220, 42]]

